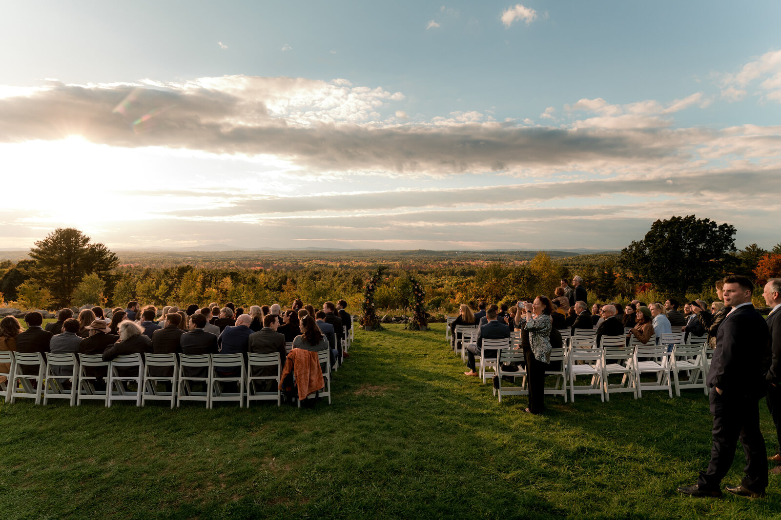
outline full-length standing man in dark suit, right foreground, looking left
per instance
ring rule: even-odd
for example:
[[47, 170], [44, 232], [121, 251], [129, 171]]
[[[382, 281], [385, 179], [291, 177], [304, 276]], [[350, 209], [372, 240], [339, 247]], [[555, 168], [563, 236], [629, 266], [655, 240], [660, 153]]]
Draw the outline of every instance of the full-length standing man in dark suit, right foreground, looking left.
[[733, 310], [719, 326], [708, 370], [713, 416], [711, 462], [694, 486], [678, 490], [694, 497], [721, 497], [721, 482], [732, 465], [740, 438], [746, 454], [746, 475], [739, 486], [725, 489], [740, 497], [764, 497], [768, 462], [759, 429], [759, 399], [767, 390], [762, 364], [768, 350], [768, 325], [751, 305], [751, 280], [729, 275], [724, 278], [723, 290], [724, 302]]

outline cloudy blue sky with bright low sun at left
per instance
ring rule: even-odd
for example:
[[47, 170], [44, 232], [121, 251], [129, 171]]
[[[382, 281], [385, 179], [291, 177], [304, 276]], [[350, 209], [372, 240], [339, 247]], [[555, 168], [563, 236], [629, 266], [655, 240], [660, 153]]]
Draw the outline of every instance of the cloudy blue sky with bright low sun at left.
[[781, 242], [781, 2], [9, 2], [0, 249]]

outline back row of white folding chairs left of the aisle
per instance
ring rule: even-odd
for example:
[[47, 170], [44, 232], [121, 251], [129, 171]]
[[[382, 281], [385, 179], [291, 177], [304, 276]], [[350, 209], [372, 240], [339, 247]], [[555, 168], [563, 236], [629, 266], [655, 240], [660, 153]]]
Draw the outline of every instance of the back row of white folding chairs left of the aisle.
[[[330, 404], [330, 354], [327, 351], [318, 352], [319, 363], [325, 364], [323, 373], [325, 387], [317, 392], [321, 397], [328, 397]], [[8, 373], [0, 373], [0, 377], [8, 378], [5, 384], [0, 384], [5, 401], [14, 402], [16, 398], [35, 398], [36, 404], [48, 404], [49, 399], [62, 398], [70, 400], [70, 405], [80, 405], [84, 400], [104, 401], [111, 406], [112, 401], [136, 401], [137, 406], [143, 406], [146, 401], [170, 401], [179, 406], [181, 401], [204, 401], [206, 408], [212, 408], [214, 401], [237, 401], [240, 406], [250, 401], [276, 400], [281, 404], [281, 392], [278, 389], [283, 361], [279, 353], [248, 354], [248, 363], [244, 365], [242, 354], [202, 354], [186, 356], [184, 354], [130, 354], [117, 356], [111, 361], [103, 361], [101, 354], [48, 353], [46, 359], [38, 352], [0, 352], [0, 363], [9, 364]], [[30, 367], [34, 373], [23, 373], [23, 367]], [[219, 373], [219, 368], [241, 367], [240, 374], [225, 375]], [[276, 375], [253, 375], [253, 369], [266, 366], [276, 366]], [[54, 373], [56, 367], [70, 367], [70, 375]], [[172, 376], [160, 376], [150, 373], [150, 367], [169, 368]], [[106, 390], [100, 391], [95, 386], [98, 377], [89, 375], [90, 369], [105, 368]], [[185, 368], [191, 370], [184, 370]], [[37, 371], [36, 371], [37, 369]], [[205, 375], [191, 374], [194, 370], [205, 370]], [[246, 370], [245, 370], [246, 369]], [[129, 372], [131, 371], [131, 372]], [[156, 371], [155, 371], [156, 372]], [[256, 385], [262, 381], [274, 381], [275, 391], [257, 391]], [[66, 381], [70, 381], [70, 389]], [[127, 383], [135, 382], [136, 391], [130, 391]], [[194, 392], [191, 383], [204, 384], [205, 391]], [[157, 385], [167, 383], [172, 391], [159, 391]], [[237, 384], [237, 392], [230, 394], [222, 391], [222, 384]], [[74, 391], [74, 388], [76, 389]], [[175, 389], [175, 390], [174, 390]], [[298, 405], [301, 403], [299, 401]]]

